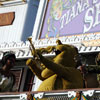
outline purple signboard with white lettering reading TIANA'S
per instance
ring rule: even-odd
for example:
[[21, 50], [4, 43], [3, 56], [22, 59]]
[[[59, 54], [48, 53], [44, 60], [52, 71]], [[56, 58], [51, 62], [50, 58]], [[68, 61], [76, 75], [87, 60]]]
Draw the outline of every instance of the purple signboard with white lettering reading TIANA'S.
[[40, 39], [100, 32], [100, 0], [49, 0]]

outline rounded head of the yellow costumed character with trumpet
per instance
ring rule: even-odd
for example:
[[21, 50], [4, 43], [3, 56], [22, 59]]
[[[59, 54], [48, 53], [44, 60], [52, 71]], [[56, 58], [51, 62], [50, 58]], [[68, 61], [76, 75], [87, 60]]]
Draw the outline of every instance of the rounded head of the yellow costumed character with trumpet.
[[[57, 40], [58, 41], [58, 40]], [[76, 67], [75, 56], [78, 55], [78, 50], [72, 45], [62, 44], [58, 41], [55, 47], [56, 56], [53, 59], [55, 63], [61, 64], [67, 67]]]

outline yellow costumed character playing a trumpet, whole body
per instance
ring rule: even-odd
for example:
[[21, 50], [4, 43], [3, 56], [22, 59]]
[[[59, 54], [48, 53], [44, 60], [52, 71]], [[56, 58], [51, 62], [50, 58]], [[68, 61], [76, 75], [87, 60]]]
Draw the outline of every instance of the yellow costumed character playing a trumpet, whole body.
[[[56, 56], [50, 60], [43, 57], [42, 53], [56, 52]], [[38, 91], [64, 90], [83, 88], [81, 73], [77, 70], [75, 56], [78, 54], [77, 49], [72, 45], [62, 44], [57, 41], [57, 46], [49, 46], [36, 50], [40, 58], [43, 69], [37, 66], [37, 61], [28, 59], [26, 64], [43, 82]]]

